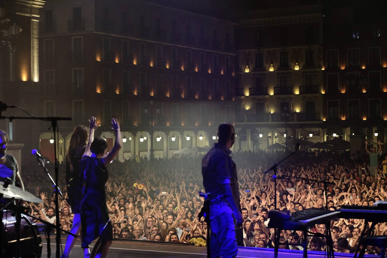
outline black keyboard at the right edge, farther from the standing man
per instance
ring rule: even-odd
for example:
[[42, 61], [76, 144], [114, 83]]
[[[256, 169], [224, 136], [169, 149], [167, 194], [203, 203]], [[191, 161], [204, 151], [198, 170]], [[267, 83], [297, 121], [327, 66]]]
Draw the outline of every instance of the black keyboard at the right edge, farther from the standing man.
[[387, 222], [387, 206], [357, 206], [343, 205], [340, 208], [340, 218], [366, 219], [374, 222]]

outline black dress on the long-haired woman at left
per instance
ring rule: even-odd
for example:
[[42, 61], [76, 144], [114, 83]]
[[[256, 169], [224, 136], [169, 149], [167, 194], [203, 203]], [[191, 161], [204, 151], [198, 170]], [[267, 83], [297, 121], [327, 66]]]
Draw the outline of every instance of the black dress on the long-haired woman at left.
[[[66, 162], [67, 201], [71, 207], [71, 212], [74, 214], [80, 213], [83, 174], [79, 172], [79, 162], [85, 150], [86, 146], [82, 149], [75, 150], [75, 153], [69, 156], [70, 162]], [[70, 163], [72, 165], [72, 169]]]

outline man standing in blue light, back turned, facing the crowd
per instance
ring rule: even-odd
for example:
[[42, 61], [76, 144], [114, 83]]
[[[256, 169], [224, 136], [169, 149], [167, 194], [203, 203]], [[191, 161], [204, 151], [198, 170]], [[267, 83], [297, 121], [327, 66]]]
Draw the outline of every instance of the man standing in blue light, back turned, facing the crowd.
[[238, 253], [235, 220], [237, 226], [242, 224], [236, 165], [230, 157], [236, 137], [234, 127], [229, 123], [219, 125], [217, 136], [217, 144], [202, 159], [202, 175], [205, 191], [211, 193], [210, 255], [228, 258]]

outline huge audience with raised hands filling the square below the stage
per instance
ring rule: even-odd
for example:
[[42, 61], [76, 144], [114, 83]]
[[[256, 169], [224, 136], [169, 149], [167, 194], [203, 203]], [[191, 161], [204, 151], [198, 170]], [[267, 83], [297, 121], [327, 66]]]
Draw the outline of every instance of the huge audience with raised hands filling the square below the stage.
[[[378, 166], [370, 166], [367, 157], [372, 156], [375, 161], [374, 153]], [[377, 200], [387, 200], [387, 156], [377, 149], [353, 156], [349, 152], [304, 150], [279, 166], [279, 176], [299, 176], [334, 183], [328, 187], [326, 194], [322, 183], [301, 179], [278, 179], [275, 193], [272, 174], [264, 174], [264, 171], [286, 154], [264, 150], [231, 154], [238, 169], [245, 246], [273, 247], [274, 229], [268, 227], [268, 211], [274, 208], [274, 195], [277, 208], [290, 212], [311, 207], [324, 208], [326, 203], [330, 210], [337, 210], [342, 205], [367, 206]], [[113, 237], [204, 246], [208, 232], [207, 223], [199, 218], [204, 201], [199, 196], [199, 191], [204, 191], [201, 160], [202, 155], [154, 161], [140, 157], [111, 162], [107, 166], [106, 207], [113, 224]], [[38, 170], [39, 167], [23, 167], [24, 184], [36, 185], [36, 192], [44, 201], [29, 205], [33, 215], [56, 223], [53, 189], [39, 186], [44, 180]], [[64, 164], [60, 165], [59, 171], [60, 187], [64, 189], [59, 204], [59, 223], [63, 229], [70, 230], [74, 213], [66, 200]], [[354, 253], [361, 231], [369, 226], [361, 219], [332, 220], [330, 230], [335, 251]], [[321, 233], [326, 230], [324, 224], [311, 229]], [[377, 224], [373, 231], [375, 235], [385, 235], [386, 223]], [[284, 244], [290, 242], [299, 245]], [[280, 243], [280, 248], [302, 250], [303, 232], [282, 231]], [[308, 239], [307, 246], [310, 250], [324, 251], [325, 239], [312, 237]], [[367, 253], [379, 251], [376, 246], [367, 247]]]

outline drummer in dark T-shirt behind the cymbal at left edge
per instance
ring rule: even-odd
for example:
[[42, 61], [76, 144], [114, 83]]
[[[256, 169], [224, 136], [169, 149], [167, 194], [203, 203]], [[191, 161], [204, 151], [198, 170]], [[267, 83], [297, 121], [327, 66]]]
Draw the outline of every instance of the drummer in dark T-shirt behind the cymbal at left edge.
[[10, 185], [17, 185], [24, 190], [23, 181], [19, 173], [19, 165], [13, 155], [7, 154], [8, 142], [8, 134], [0, 130], [0, 181], [10, 178]]

